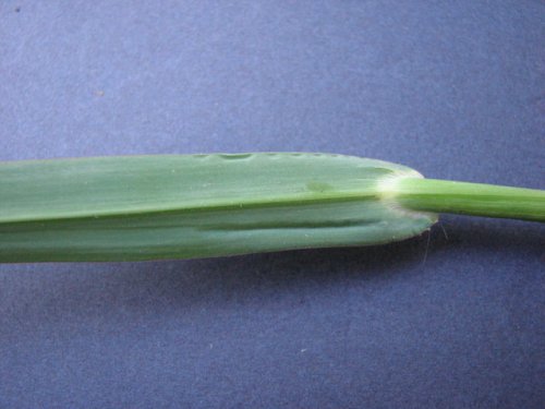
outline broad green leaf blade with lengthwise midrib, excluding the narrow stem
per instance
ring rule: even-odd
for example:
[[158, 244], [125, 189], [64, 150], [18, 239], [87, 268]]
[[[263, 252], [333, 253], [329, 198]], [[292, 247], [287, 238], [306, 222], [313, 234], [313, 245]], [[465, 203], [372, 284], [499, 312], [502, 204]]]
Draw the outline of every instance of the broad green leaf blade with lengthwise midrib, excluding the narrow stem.
[[327, 154], [5, 163], [0, 262], [189, 258], [391, 242], [437, 220], [383, 197], [385, 180], [407, 177], [420, 175]]

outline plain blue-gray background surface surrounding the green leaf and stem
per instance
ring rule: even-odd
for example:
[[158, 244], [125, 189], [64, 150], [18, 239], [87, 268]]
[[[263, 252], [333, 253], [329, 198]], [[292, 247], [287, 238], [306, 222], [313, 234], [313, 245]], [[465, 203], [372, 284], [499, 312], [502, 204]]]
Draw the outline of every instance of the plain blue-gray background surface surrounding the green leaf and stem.
[[[0, 159], [312, 151], [544, 189], [544, 44], [530, 0], [3, 0]], [[440, 225], [1, 265], [0, 407], [543, 407], [544, 227]]]

